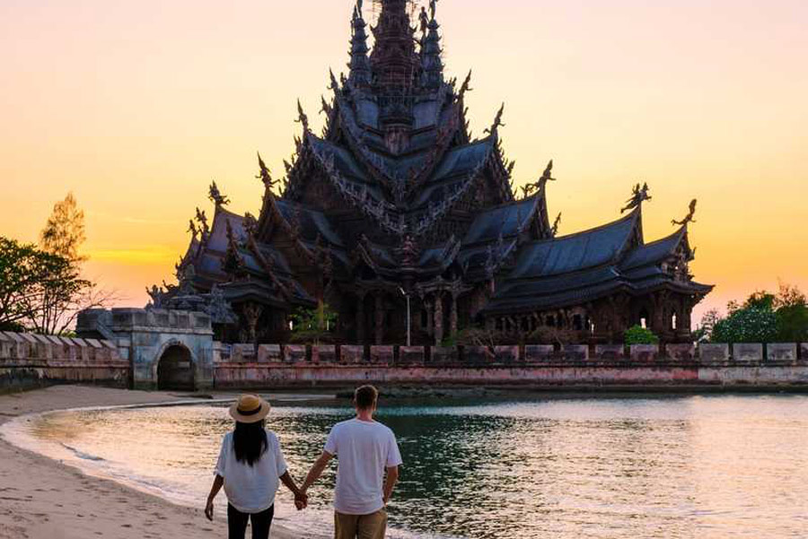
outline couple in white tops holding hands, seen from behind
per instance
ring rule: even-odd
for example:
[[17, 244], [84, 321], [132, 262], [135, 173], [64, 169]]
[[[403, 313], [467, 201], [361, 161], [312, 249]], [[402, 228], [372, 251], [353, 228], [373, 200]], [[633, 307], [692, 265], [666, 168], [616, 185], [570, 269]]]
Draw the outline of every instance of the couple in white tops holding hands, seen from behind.
[[222, 440], [206, 517], [213, 519], [213, 501], [224, 486], [228, 538], [243, 539], [251, 521], [252, 538], [267, 539], [280, 483], [294, 493], [295, 507], [305, 509], [309, 487], [336, 457], [335, 539], [383, 539], [385, 507], [399, 478], [401, 455], [392, 430], [373, 421], [378, 397], [373, 386], [356, 389], [356, 417], [334, 425], [322, 455], [300, 488], [286, 470], [276, 434], [265, 428], [269, 404], [259, 396], [239, 397], [230, 408], [235, 428]]

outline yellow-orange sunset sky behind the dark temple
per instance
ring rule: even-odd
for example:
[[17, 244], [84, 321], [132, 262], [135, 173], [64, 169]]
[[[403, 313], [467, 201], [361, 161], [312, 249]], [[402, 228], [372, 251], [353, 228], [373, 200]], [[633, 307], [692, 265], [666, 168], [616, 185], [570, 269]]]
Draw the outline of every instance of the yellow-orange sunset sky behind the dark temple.
[[[298, 97], [319, 133], [352, 5], [0, 0], [0, 235], [36, 240], [73, 191], [88, 276], [145, 304], [212, 179], [258, 213], [256, 151], [280, 176]], [[475, 135], [505, 101], [516, 184], [555, 160], [562, 234], [618, 218], [647, 181], [646, 240], [698, 198], [693, 269], [717, 285], [698, 313], [778, 279], [808, 289], [804, 0], [440, 0], [437, 14], [449, 76], [474, 70]]]

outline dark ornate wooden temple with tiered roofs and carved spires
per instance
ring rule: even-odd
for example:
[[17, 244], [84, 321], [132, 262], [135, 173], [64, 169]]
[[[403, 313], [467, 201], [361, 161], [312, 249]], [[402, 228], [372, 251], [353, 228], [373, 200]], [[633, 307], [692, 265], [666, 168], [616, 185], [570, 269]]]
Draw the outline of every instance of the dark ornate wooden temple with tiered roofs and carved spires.
[[[644, 324], [666, 342], [690, 338], [690, 313], [712, 290], [693, 281], [689, 216], [646, 243], [634, 194], [615, 222], [559, 236], [540, 179], [514, 192], [499, 128], [472, 138], [460, 84], [444, 78], [435, 0], [377, 0], [369, 26], [358, 2], [347, 75], [330, 74], [327, 117], [302, 132], [272, 178], [259, 156], [258, 216], [227, 210], [211, 186], [212, 219], [197, 210], [177, 266], [179, 284], [153, 287], [154, 306], [210, 312], [218, 338], [285, 342], [297, 309], [327, 304], [343, 343], [443, 343], [463, 329], [492, 334], [572, 332], [621, 342]], [[695, 210], [695, 201], [692, 205]]]

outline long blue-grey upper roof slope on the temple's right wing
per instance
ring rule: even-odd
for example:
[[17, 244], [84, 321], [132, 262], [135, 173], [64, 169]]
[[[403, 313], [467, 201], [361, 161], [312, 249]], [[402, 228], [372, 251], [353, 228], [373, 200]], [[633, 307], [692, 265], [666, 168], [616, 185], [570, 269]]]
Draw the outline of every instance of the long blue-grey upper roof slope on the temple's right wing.
[[634, 233], [639, 213], [570, 236], [526, 244], [509, 279], [566, 274], [615, 260]]

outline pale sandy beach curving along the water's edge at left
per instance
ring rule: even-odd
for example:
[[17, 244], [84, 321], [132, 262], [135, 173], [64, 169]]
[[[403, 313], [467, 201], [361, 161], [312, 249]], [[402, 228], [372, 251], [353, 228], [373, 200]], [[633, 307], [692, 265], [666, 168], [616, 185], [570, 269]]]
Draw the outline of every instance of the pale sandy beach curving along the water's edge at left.
[[[0, 396], [0, 424], [28, 413], [84, 406], [168, 403], [187, 396], [101, 387], [58, 386]], [[216, 499], [225, 503], [224, 494]], [[204, 500], [191, 509], [82, 474], [0, 439], [0, 538], [109, 539], [226, 537], [224, 518], [209, 522]], [[248, 530], [249, 534], [249, 530]], [[294, 536], [272, 527], [275, 539]]]

